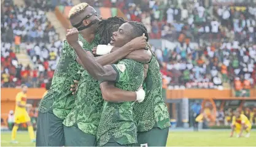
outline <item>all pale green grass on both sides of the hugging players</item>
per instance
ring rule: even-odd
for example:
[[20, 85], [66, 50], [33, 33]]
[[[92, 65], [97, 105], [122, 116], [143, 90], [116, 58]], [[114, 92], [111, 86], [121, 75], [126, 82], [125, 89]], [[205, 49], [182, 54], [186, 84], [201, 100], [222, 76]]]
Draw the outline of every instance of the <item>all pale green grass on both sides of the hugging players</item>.
[[[230, 130], [202, 130], [200, 132], [169, 132], [167, 146], [256, 146], [256, 132], [250, 132], [250, 138], [230, 138]], [[235, 136], [235, 135], [234, 135]], [[35, 146], [30, 143], [28, 132], [18, 132], [17, 141], [10, 144], [10, 132], [1, 133], [1, 146]]]

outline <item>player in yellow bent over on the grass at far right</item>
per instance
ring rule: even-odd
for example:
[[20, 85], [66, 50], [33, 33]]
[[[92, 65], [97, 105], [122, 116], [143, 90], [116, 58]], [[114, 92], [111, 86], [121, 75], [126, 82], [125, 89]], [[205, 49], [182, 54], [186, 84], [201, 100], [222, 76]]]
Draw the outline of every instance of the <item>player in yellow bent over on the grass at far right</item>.
[[246, 130], [247, 133], [245, 137], [250, 137], [250, 129], [252, 129], [252, 124], [250, 123], [249, 119], [236, 110], [232, 118], [230, 137], [233, 137], [234, 131], [236, 132], [237, 137], [242, 137], [242, 132], [244, 130]]

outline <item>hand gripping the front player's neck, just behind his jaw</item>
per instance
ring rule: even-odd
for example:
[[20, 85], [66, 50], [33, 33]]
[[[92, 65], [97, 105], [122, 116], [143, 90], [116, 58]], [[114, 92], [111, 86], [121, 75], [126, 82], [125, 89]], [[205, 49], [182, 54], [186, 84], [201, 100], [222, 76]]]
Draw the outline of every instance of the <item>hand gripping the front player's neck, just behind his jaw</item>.
[[147, 40], [147, 37], [145, 37], [145, 34], [143, 33], [142, 36], [134, 38], [129, 43], [133, 48], [133, 50], [139, 50], [139, 49], [145, 48], [145, 45], [147, 43], [146, 40]]

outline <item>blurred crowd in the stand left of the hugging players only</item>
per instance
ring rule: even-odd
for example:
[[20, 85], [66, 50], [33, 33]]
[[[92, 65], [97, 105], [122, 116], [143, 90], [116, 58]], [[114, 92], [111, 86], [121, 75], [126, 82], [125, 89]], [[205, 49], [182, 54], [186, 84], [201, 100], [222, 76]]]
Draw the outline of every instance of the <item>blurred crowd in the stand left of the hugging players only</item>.
[[[28, 6], [3, 7], [1, 15], [1, 87], [45, 87], [53, 77], [62, 42], [45, 16], [45, 1], [25, 1]], [[60, 4], [72, 5], [70, 1]], [[34, 69], [18, 64], [15, 54], [25, 50]]]

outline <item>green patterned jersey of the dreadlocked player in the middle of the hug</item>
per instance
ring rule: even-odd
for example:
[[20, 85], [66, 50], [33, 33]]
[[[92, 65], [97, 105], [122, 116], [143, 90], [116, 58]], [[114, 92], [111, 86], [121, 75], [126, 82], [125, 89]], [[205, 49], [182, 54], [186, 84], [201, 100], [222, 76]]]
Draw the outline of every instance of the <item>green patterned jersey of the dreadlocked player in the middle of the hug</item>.
[[[86, 48], [91, 50], [98, 45], [98, 41], [99, 37], [96, 36], [91, 44], [87, 43]], [[83, 132], [96, 135], [101, 117], [103, 98], [98, 81], [91, 77], [87, 70], [83, 69], [75, 99], [76, 107], [64, 119], [63, 124], [67, 127], [77, 124]]]

